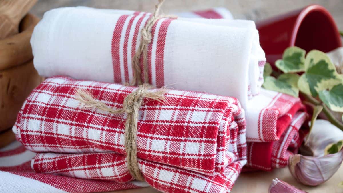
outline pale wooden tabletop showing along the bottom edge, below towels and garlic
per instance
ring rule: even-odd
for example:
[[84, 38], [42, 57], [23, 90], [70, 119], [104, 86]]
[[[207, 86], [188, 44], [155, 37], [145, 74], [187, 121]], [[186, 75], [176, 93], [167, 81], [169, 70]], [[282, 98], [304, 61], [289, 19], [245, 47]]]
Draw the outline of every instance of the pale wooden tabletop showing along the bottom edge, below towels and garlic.
[[[276, 169], [271, 172], [248, 172], [242, 173], [238, 177], [232, 193], [267, 193], [272, 179], [279, 178], [299, 189], [309, 193], [343, 193], [343, 188], [338, 188], [338, 183], [343, 181], [343, 166], [325, 183], [311, 187], [299, 184], [289, 173], [288, 168]], [[113, 193], [155, 193], [153, 188], [140, 188], [125, 191], [115, 191]]]

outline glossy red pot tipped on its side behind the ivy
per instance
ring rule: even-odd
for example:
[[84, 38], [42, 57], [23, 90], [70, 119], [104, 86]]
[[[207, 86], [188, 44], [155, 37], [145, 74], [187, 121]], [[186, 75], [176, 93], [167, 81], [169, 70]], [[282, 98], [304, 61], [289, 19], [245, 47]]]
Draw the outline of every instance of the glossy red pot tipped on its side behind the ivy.
[[318, 49], [329, 52], [342, 46], [337, 26], [321, 5], [307, 7], [256, 23], [260, 44], [267, 61], [274, 66], [289, 46], [306, 50]]

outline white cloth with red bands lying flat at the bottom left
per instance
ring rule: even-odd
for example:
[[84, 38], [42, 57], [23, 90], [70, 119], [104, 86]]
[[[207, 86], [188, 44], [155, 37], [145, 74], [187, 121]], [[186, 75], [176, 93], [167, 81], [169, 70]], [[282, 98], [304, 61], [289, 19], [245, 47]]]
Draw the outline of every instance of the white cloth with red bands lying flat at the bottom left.
[[0, 149], [1, 192], [108, 192], [149, 186], [138, 181], [117, 183], [35, 173], [31, 168], [33, 157], [35, 153], [27, 150], [19, 141]]

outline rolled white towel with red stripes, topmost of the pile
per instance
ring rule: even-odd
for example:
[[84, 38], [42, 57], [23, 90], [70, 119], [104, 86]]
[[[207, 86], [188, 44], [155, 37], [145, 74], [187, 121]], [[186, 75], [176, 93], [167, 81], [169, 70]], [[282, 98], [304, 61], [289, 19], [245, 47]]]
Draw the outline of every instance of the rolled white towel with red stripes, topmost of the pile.
[[[34, 65], [45, 77], [131, 82], [132, 57], [149, 17], [84, 7], [50, 10], [31, 38]], [[150, 84], [233, 96], [243, 107], [259, 93], [265, 55], [253, 21], [163, 18], [151, 34]]]

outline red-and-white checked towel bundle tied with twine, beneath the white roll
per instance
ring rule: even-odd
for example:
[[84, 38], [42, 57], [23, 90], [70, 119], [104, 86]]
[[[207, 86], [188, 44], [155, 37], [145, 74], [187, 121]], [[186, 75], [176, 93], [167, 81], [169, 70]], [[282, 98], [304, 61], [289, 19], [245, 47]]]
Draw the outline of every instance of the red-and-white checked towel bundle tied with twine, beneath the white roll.
[[[46, 79], [28, 96], [13, 127], [27, 149], [40, 152], [33, 168], [85, 179], [133, 180], [123, 156], [126, 115], [82, 109], [77, 89], [120, 109], [136, 88]], [[163, 192], [229, 191], [246, 163], [246, 123], [238, 100], [178, 90], [164, 96], [165, 103], [144, 100], [139, 110], [137, 157], [146, 182]], [[61, 165], [43, 166], [45, 158]]]

